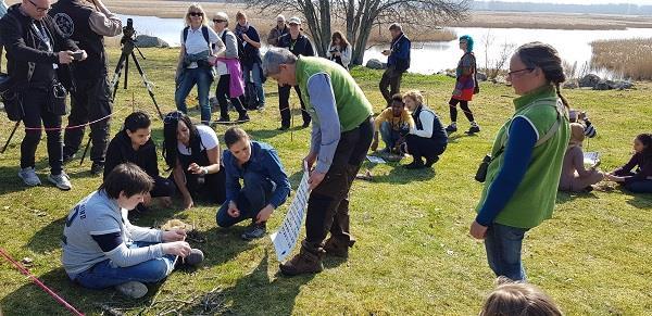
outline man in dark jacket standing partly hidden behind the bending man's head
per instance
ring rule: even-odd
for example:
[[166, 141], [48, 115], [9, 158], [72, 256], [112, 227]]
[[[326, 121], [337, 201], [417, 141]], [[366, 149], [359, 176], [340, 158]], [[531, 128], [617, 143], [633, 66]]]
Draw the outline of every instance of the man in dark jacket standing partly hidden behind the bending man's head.
[[[315, 52], [312, 47], [310, 39], [301, 33], [301, 18], [292, 16], [288, 21], [290, 25], [290, 31], [278, 38], [278, 47], [287, 48], [296, 56], [314, 56]], [[301, 98], [301, 89], [299, 86], [294, 86], [294, 91], [299, 97], [301, 103], [301, 116], [303, 117], [303, 127], [310, 125], [310, 114], [305, 112], [305, 104]], [[278, 111], [280, 111], [280, 128], [279, 130], [286, 130], [290, 128], [290, 86], [278, 86]]]

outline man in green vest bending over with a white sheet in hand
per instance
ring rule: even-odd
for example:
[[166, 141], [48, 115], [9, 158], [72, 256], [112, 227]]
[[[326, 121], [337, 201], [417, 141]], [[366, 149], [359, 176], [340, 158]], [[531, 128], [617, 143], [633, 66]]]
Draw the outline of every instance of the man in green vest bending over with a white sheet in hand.
[[[325, 59], [272, 48], [263, 58], [263, 73], [280, 86], [299, 86], [313, 122], [304, 159], [312, 190], [306, 236], [300, 253], [281, 264], [280, 270], [288, 276], [319, 273], [324, 254], [347, 257], [355, 242], [349, 232], [348, 197], [372, 143], [372, 104], [343, 67]], [[324, 242], [328, 232], [330, 238]]]

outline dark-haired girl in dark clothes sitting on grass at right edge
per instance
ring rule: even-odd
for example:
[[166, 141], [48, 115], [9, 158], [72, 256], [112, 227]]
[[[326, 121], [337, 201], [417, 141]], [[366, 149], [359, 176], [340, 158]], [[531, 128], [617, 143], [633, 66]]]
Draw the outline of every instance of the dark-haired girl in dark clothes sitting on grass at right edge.
[[[634, 139], [635, 154], [629, 162], [609, 173], [606, 178], [622, 184], [634, 193], [652, 193], [652, 134], [640, 134]], [[635, 173], [631, 172], [638, 166]]]

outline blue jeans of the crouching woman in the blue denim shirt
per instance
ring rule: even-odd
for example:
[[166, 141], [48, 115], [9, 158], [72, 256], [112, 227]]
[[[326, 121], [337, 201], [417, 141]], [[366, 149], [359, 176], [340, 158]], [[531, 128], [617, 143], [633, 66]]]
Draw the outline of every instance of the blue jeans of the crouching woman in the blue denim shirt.
[[238, 210], [240, 210], [240, 216], [231, 217], [228, 214], [229, 201], [225, 201], [215, 216], [217, 226], [230, 227], [248, 218], [255, 218], [261, 210], [269, 203], [274, 187], [274, 181], [263, 178], [260, 174], [246, 173], [244, 186], [235, 201]]

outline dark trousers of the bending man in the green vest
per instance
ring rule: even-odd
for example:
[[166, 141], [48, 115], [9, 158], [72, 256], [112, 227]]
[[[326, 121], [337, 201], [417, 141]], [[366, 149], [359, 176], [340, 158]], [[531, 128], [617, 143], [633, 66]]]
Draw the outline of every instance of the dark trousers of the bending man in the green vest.
[[324, 180], [311, 192], [305, 217], [305, 241], [322, 247], [326, 235], [352, 240], [349, 232], [349, 190], [372, 144], [371, 117], [358, 128], [341, 134], [333, 164]]

